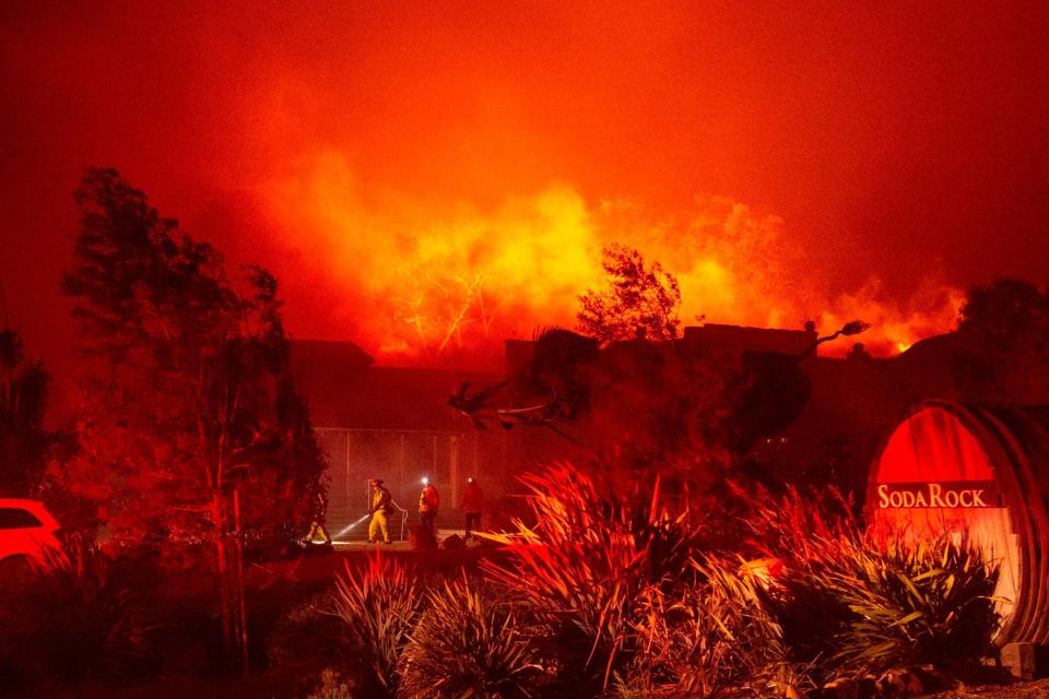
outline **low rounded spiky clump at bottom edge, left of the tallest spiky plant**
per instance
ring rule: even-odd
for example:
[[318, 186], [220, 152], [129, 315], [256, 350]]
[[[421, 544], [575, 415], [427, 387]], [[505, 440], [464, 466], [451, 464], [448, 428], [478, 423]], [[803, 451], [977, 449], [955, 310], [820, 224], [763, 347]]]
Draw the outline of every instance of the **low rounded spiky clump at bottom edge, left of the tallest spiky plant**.
[[461, 581], [431, 591], [401, 654], [401, 694], [413, 699], [515, 699], [542, 673], [511, 607]]

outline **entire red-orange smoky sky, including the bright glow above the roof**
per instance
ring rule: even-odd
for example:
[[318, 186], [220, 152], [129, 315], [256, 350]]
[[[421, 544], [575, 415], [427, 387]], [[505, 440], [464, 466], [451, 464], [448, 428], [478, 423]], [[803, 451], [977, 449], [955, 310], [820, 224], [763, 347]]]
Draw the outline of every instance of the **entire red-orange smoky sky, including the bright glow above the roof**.
[[420, 303], [439, 344], [479, 277], [451, 345], [570, 322], [612, 240], [686, 322], [886, 347], [1049, 272], [1045, 3], [211, 4], [0, 8], [0, 284], [49, 362], [87, 164], [372, 352], [419, 350]]

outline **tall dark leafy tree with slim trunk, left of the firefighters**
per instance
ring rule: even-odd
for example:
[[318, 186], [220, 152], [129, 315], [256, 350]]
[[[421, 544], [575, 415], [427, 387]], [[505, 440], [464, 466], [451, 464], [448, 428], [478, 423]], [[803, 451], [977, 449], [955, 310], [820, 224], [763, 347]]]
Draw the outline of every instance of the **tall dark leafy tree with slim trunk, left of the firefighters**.
[[169, 561], [210, 546], [224, 636], [243, 643], [244, 532], [308, 522], [323, 467], [292, 388], [276, 280], [258, 266], [227, 277], [213, 247], [114, 169], [89, 169], [74, 198], [62, 286], [93, 371], [79, 453], [56, 479], [117, 542], [163, 541]]

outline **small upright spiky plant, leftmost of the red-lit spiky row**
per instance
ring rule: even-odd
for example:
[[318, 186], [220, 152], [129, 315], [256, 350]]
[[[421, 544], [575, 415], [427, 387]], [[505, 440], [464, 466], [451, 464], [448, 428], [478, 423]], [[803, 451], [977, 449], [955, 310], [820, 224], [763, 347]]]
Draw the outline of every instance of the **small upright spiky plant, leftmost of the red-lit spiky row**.
[[370, 671], [374, 692], [392, 696], [398, 683], [398, 659], [419, 620], [423, 594], [415, 576], [391, 558], [368, 557], [355, 572], [347, 562], [335, 579], [332, 613], [345, 625], [350, 645]]

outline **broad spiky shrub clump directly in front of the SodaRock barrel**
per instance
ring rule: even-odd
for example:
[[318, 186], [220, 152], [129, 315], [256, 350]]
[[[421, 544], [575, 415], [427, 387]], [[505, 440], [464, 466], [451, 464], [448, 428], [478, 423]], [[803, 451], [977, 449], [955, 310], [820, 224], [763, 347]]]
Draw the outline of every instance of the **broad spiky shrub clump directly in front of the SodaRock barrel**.
[[758, 497], [750, 525], [787, 561], [769, 601], [790, 657], [825, 679], [977, 657], [993, 636], [998, 573], [965, 541], [861, 530], [834, 490]]

